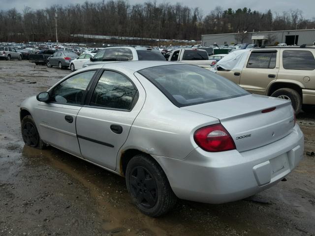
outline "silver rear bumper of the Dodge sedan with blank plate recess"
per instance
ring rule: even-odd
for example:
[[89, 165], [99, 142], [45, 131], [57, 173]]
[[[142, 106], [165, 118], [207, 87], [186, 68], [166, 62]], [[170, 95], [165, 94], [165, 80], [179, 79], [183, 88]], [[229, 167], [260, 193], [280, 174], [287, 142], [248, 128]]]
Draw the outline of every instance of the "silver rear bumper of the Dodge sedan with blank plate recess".
[[[303, 152], [304, 136], [295, 125], [281, 140], [244, 152], [213, 153], [196, 148], [184, 160], [154, 157], [177, 197], [220, 204], [252, 196], [273, 186], [298, 165]], [[285, 160], [283, 168], [282, 163], [279, 168], [281, 158]]]

